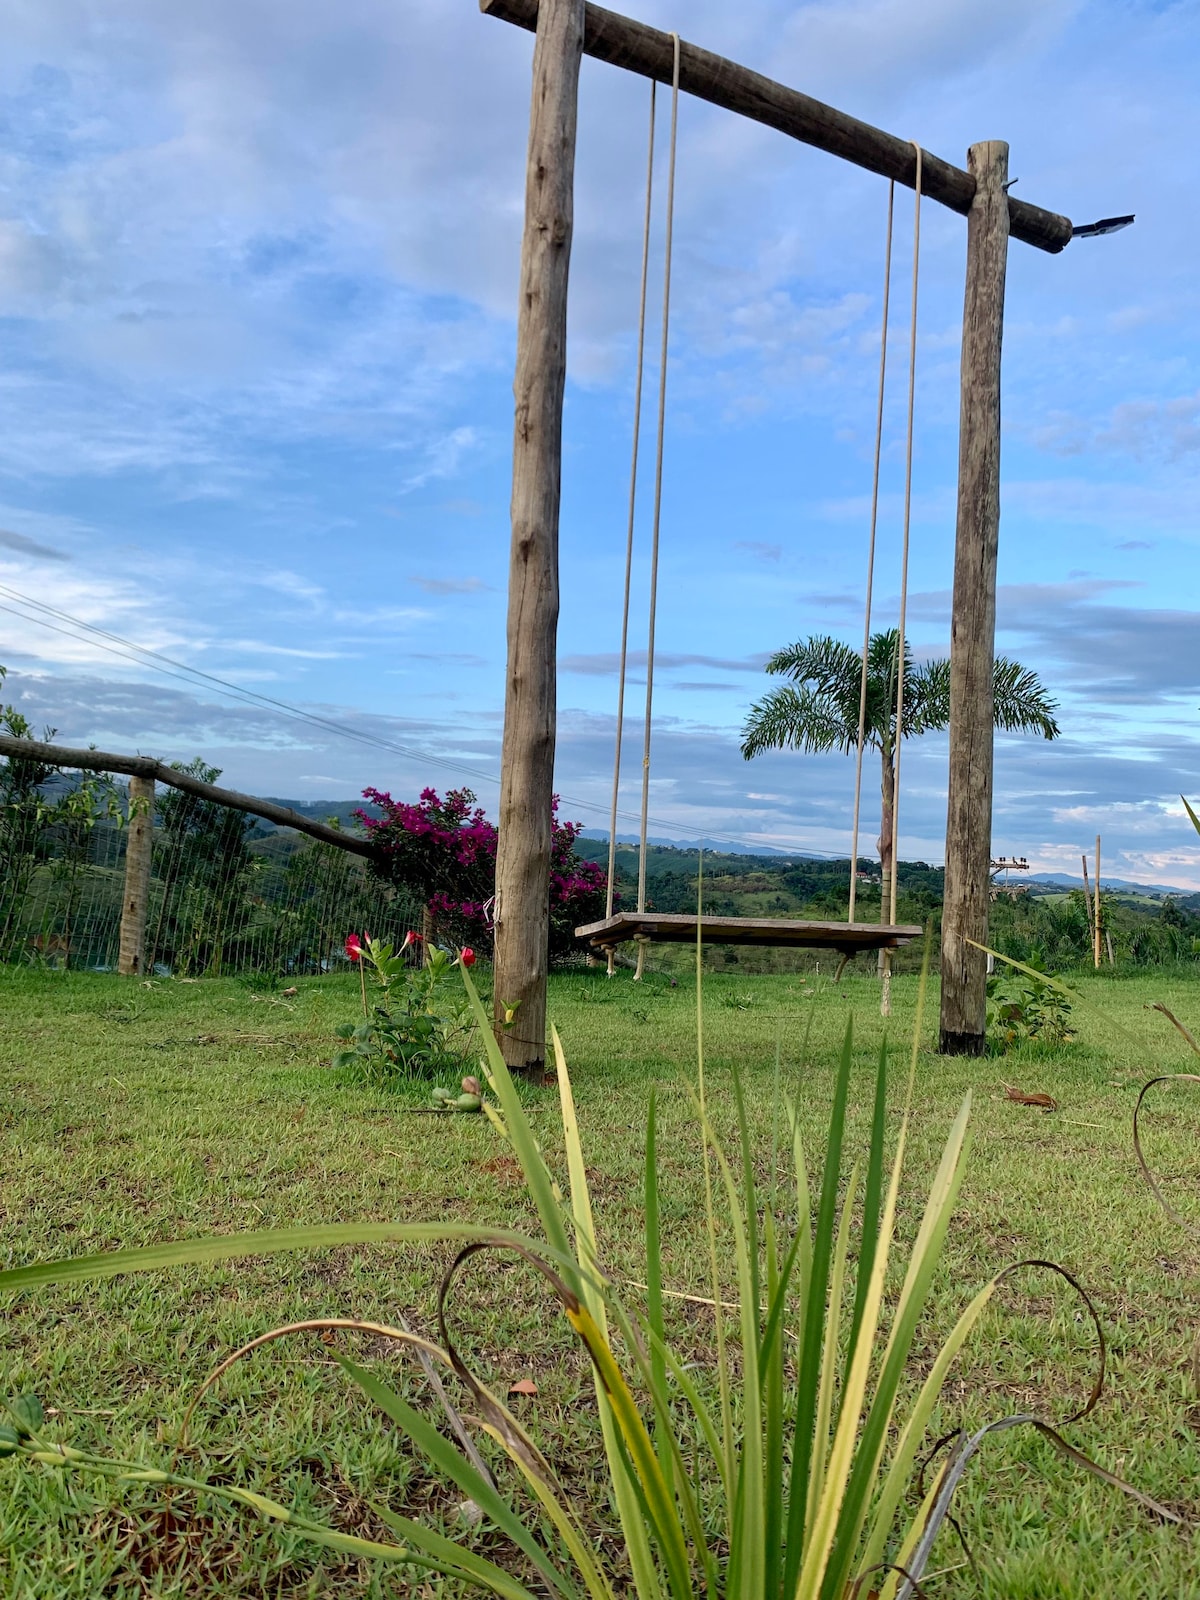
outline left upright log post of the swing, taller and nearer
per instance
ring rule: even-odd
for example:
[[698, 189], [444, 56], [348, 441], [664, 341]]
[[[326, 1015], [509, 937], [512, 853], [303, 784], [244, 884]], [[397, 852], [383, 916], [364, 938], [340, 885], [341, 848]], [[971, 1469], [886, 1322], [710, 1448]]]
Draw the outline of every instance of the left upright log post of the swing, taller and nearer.
[[[582, 45], [584, 0], [541, 0], [517, 315], [509, 659], [496, 848], [494, 1016], [504, 1059], [526, 1072], [546, 1059], [566, 280]], [[506, 1013], [512, 1014], [507, 1029]]]

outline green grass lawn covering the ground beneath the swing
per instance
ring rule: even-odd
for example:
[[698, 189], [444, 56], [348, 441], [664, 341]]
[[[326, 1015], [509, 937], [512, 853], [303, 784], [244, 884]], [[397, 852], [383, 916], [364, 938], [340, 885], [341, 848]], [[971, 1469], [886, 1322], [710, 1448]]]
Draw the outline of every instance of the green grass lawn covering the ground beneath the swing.
[[[1083, 979], [1078, 1038], [1053, 1053], [918, 1062], [915, 1138], [901, 1229], [915, 1229], [933, 1163], [965, 1090], [973, 1144], [934, 1298], [930, 1357], [970, 1294], [1022, 1256], [1062, 1262], [1088, 1286], [1110, 1339], [1099, 1408], [1069, 1437], [1149, 1494], [1200, 1517], [1200, 1395], [1190, 1374], [1200, 1286], [1200, 1102], [1187, 1088], [1155, 1099], [1147, 1155], [1181, 1210], [1181, 1229], [1141, 1179], [1131, 1147], [1139, 1085], [1187, 1070], [1184, 1042], [1146, 1010], [1166, 1002], [1200, 1022], [1186, 974]], [[917, 982], [898, 978], [893, 1037], [910, 1037]], [[706, 981], [707, 1058], [717, 1122], [731, 1131], [730, 1069], [744, 1074], [766, 1133], [776, 1046], [813, 1146], [824, 1126], [835, 1043], [856, 1024], [853, 1138], [866, 1141], [882, 1021], [867, 976], [840, 987], [800, 976]], [[358, 1003], [352, 979], [301, 982], [294, 1000], [237, 981], [139, 984], [117, 978], [0, 973], [0, 1216], [3, 1258], [82, 1254], [179, 1235], [339, 1219], [486, 1219], [531, 1227], [514, 1163], [483, 1118], [413, 1117], [427, 1086], [368, 1090], [328, 1066], [336, 1022]], [[643, 1278], [642, 1139], [648, 1094], [661, 1110], [667, 1251], [677, 1290], [707, 1293], [701, 1168], [688, 1083], [694, 987], [651, 974], [635, 986], [600, 971], [554, 979], [552, 1013], [571, 1062], [602, 1240], [613, 1275]], [[805, 1032], [811, 1035], [805, 1050]], [[936, 994], [926, 1018], [926, 1046]], [[898, 1051], [899, 1101], [906, 1051]], [[1050, 1091], [1056, 1114], [1003, 1098]], [[528, 1091], [531, 1118], [558, 1162], [557, 1094]], [[253, 1258], [227, 1267], [61, 1286], [5, 1306], [3, 1381], [53, 1408], [58, 1437], [165, 1464], [184, 1406], [237, 1344], [306, 1315], [405, 1315], [434, 1333], [445, 1250], [346, 1250]], [[590, 1378], [570, 1330], [522, 1266], [485, 1258], [464, 1274], [459, 1347], [486, 1381], [530, 1376], [515, 1402], [598, 1530], [602, 1450]], [[706, 1310], [677, 1304], [675, 1334], [710, 1360]], [[347, 1349], [350, 1346], [347, 1344]], [[363, 1354], [362, 1344], [357, 1347]], [[366, 1350], [414, 1395], [405, 1358]], [[1014, 1410], [1062, 1418], [1091, 1384], [1090, 1326], [1066, 1286], [1026, 1274], [1003, 1293], [960, 1357], [938, 1432]], [[936, 1437], [931, 1435], [931, 1437]], [[275, 1346], [235, 1368], [200, 1408], [181, 1459], [197, 1477], [245, 1483], [317, 1510], [333, 1525], [387, 1536], [373, 1502], [445, 1518], [454, 1499], [390, 1426], [365, 1413], [322, 1342]], [[184, 1531], [162, 1566], [162, 1498], [139, 1486], [0, 1462], [5, 1595], [382, 1595], [440, 1594], [315, 1550], [250, 1514], [176, 1499]], [[1197, 1536], [1152, 1522], [1125, 1496], [1070, 1467], [1032, 1430], [997, 1435], [970, 1469], [957, 1514], [978, 1562], [944, 1533], [926, 1592], [939, 1597], [1192, 1597]], [[483, 1534], [486, 1539], [488, 1534]], [[611, 1552], [611, 1542], [610, 1542]]]

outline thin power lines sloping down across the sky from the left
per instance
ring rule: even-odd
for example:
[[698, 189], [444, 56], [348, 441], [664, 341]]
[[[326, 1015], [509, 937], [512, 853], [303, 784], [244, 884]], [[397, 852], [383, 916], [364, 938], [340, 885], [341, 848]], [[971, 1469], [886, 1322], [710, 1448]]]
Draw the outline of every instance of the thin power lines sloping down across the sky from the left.
[[[75, 638], [82, 643], [93, 643], [99, 650], [107, 651], [110, 656], [117, 656], [122, 661], [128, 661], [133, 666], [147, 666], [150, 670], [162, 674], [163, 677], [174, 678], [179, 683], [186, 683], [190, 688], [197, 686], [197, 680], [203, 685], [216, 690], [218, 694], [224, 694], [238, 704], [253, 706], [258, 709], [272, 710], [277, 715], [288, 717], [293, 722], [301, 722], [307, 726], [318, 728], [323, 733], [333, 733], [341, 739], [350, 739], [354, 744], [363, 744], [378, 750], [387, 750], [390, 755], [403, 755], [405, 760], [424, 762], [429, 766], [438, 766], [443, 771], [458, 773], [464, 778], [472, 778], [475, 782], [499, 784], [499, 776], [496, 773], [485, 773], [474, 766], [466, 766], [462, 762], [448, 760], [443, 755], [430, 755], [427, 750], [418, 750], [411, 746], [395, 744], [390, 739], [379, 738], [371, 733], [360, 733], [344, 723], [333, 722], [328, 717], [320, 717], [317, 712], [304, 710], [299, 706], [291, 706], [288, 701], [275, 699], [270, 694], [259, 694], [258, 690], [248, 690], [240, 683], [230, 683], [227, 678], [221, 678], [213, 672], [203, 672], [200, 667], [190, 667], [186, 661], [176, 661], [173, 656], [165, 656], [158, 650], [150, 650], [147, 645], [138, 645], [130, 638], [123, 638], [120, 634], [110, 634], [104, 627], [98, 627], [94, 622], [85, 622], [83, 618], [72, 616], [69, 611], [61, 611], [58, 606], [46, 605], [42, 600], [35, 600], [32, 595], [22, 594], [19, 589], [11, 589], [6, 584], [0, 584], [0, 595], [6, 595], [10, 600], [16, 600], [21, 606], [32, 606], [35, 613], [43, 613], [42, 616], [30, 616], [27, 611], [18, 610], [18, 606], [0, 603], [0, 611], [10, 616], [18, 616], [24, 622], [34, 622], [38, 627], [50, 629], [53, 634], [61, 634], [66, 638]], [[48, 618], [56, 618], [56, 622], [48, 621]], [[66, 624], [66, 626], [62, 626]], [[83, 632], [80, 632], [80, 629]], [[88, 637], [91, 635], [91, 637]], [[594, 800], [581, 800], [574, 795], [562, 795], [565, 805], [573, 810], [595, 811], [602, 816], [608, 816], [608, 806], [603, 806]], [[634, 811], [618, 811], [618, 818], [626, 822], [640, 822], [642, 818]], [[726, 838], [720, 834], [712, 834], [707, 829], [693, 827], [686, 822], [667, 822], [662, 818], [648, 818], [654, 827], [667, 827], [682, 834], [690, 834], [693, 838], [710, 838], [717, 845], [736, 845], [742, 850], [752, 846], [742, 838]], [[771, 846], [768, 846], [771, 848]]]

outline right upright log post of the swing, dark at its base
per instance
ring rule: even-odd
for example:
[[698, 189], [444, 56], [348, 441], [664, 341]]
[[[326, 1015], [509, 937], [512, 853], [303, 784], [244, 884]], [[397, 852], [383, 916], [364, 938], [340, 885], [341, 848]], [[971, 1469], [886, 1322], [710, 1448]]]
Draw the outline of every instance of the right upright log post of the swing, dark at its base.
[[966, 222], [958, 520], [950, 622], [950, 774], [946, 816], [939, 1048], [987, 1046], [987, 907], [992, 851], [992, 670], [1000, 542], [1000, 347], [1008, 264], [1008, 146], [973, 144]]

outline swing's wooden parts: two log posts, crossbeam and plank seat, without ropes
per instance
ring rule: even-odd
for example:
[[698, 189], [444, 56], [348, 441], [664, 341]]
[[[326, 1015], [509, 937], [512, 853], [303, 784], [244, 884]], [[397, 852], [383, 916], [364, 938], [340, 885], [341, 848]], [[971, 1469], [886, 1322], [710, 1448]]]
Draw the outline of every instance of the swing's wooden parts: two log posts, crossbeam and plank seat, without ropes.
[[[589, 54], [670, 83], [677, 42], [672, 34], [586, 0], [480, 0], [480, 10], [536, 34], [514, 382], [494, 989], [506, 1059], [512, 1067], [534, 1070], [546, 1054], [562, 408], [579, 62]], [[686, 42], [678, 42], [678, 86], [909, 189], [917, 182], [918, 155], [909, 141]], [[1112, 230], [1131, 218], [1077, 229], [1066, 216], [1014, 198], [1008, 194], [1008, 146], [1002, 141], [973, 144], [966, 170], [926, 152], [920, 165], [923, 195], [966, 216], [939, 1045], [954, 1054], [982, 1054], [986, 958], [979, 946], [987, 941], [990, 885], [1000, 347], [1008, 238], [1011, 234], [1054, 254], [1075, 234]], [[640, 920], [646, 925], [642, 938], [667, 936], [651, 933], [651, 923], [662, 930], [675, 926], [664, 917]], [[683, 922], [693, 939], [696, 918]], [[733, 922], [746, 928], [747, 918]], [[726, 923], [720, 933], [722, 923], [704, 918], [702, 928], [715, 942], [736, 942], [736, 930]], [[738, 942], [811, 944], [819, 934], [819, 942], [843, 947], [861, 928], [875, 942], [858, 947], [878, 949], [920, 933], [867, 923], [792, 923], [794, 934], [784, 939], [787, 922], [763, 918], [762, 923], [770, 925], [770, 938], [750, 939], [747, 930], [747, 938]], [[611, 944], [618, 925], [629, 928], [629, 914], [579, 931], [594, 942]], [[813, 938], [805, 938], [805, 926]], [[522, 1027], [506, 1030], [502, 1018], [514, 1003], [520, 1005]]]

